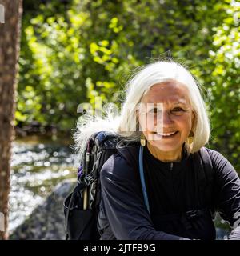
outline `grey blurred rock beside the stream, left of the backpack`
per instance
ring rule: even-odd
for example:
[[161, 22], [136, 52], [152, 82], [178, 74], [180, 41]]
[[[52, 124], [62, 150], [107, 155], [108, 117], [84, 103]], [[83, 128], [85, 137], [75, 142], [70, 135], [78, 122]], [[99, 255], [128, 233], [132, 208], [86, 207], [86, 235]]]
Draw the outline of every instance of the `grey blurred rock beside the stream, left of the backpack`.
[[62, 182], [48, 198], [18, 226], [10, 239], [62, 240], [66, 238], [63, 200], [74, 188], [75, 182]]

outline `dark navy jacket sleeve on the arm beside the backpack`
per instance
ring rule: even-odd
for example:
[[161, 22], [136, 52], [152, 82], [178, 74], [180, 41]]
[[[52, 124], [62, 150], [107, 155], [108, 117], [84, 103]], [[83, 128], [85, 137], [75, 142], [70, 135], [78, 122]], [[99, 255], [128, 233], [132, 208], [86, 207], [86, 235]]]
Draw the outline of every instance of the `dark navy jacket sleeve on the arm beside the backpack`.
[[138, 175], [119, 154], [112, 155], [100, 173], [106, 218], [118, 240], [184, 240], [154, 229], [139, 187]]

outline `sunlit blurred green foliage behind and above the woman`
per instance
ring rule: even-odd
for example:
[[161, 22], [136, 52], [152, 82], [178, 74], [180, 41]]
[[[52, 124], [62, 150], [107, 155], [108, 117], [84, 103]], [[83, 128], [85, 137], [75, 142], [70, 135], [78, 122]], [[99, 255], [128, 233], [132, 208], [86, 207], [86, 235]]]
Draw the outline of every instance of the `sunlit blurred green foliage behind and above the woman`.
[[[61, 6], [61, 5], [60, 5]], [[130, 71], [158, 58], [204, 87], [210, 145], [234, 163], [239, 140], [239, 5], [230, 0], [82, 0], [40, 5], [23, 20], [18, 125], [74, 128], [78, 104], [116, 102]]]

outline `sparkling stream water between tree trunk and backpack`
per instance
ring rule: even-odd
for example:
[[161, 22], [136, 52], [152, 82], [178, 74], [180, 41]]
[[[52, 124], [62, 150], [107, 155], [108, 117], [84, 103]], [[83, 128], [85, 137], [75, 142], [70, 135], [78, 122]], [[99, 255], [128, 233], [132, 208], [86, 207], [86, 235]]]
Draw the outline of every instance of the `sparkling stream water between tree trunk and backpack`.
[[10, 232], [30, 215], [59, 182], [76, 178], [70, 142], [30, 137], [13, 144]]

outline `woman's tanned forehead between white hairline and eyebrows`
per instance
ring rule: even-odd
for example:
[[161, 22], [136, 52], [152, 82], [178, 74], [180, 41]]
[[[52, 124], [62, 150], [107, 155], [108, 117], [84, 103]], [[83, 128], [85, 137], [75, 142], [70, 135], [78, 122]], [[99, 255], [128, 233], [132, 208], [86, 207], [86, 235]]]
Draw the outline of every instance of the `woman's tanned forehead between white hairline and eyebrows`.
[[189, 104], [189, 90], [180, 82], [162, 82], [151, 86], [142, 98], [142, 102], [171, 104]]

